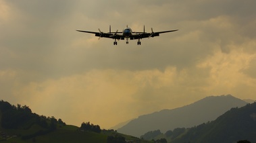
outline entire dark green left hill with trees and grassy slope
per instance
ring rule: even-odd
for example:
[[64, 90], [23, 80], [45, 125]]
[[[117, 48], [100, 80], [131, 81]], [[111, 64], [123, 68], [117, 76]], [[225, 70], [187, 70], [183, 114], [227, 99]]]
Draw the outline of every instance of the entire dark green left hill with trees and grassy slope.
[[0, 101], [0, 142], [3, 143], [125, 143], [126, 140], [148, 142], [114, 130], [102, 130], [99, 125], [90, 122], [82, 122], [80, 128], [66, 125], [61, 119], [56, 120], [55, 117], [32, 113], [26, 105], [16, 106], [3, 100]]

